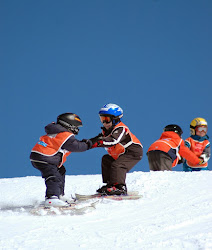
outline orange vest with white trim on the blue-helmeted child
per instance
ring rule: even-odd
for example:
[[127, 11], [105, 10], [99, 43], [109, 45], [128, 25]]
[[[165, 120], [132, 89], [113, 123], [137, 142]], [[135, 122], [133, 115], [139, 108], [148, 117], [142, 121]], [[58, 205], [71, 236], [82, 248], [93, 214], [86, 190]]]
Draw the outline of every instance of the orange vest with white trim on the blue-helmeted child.
[[[115, 129], [117, 129], [117, 128], [119, 128], [119, 127], [123, 127], [123, 128], [125, 129], [125, 134], [126, 134], [126, 135], [129, 134], [131, 140], [130, 140], [127, 144], [125, 144], [125, 145], [123, 145], [123, 144], [121, 144], [121, 143], [119, 142], [119, 143], [117, 143], [116, 145], [114, 145], [114, 146], [112, 146], [112, 147], [105, 148], [105, 149], [107, 150], [108, 154], [109, 154], [110, 156], [112, 156], [113, 159], [115, 159], [115, 160], [117, 160], [117, 159], [119, 158], [120, 155], [124, 154], [124, 153], [125, 153], [125, 149], [126, 149], [127, 147], [129, 147], [130, 145], [132, 145], [132, 144], [138, 144], [138, 145], [140, 145], [141, 147], [143, 147], [142, 144], [140, 143], [140, 141], [138, 140], [138, 138], [137, 138], [134, 134], [132, 134], [132, 133], [130, 132], [129, 128], [128, 128], [123, 122], [118, 123], [118, 124], [113, 128], [113, 130], [111, 131], [111, 134], [113, 133], [113, 131], [114, 131]], [[104, 131], [103, 131], [103, 133], [104, 133]], [[110, 134], [110, 135], [111, 135], [111, 134]], [[109, 135], [109, 136], [110, 136], [110, 135]]]

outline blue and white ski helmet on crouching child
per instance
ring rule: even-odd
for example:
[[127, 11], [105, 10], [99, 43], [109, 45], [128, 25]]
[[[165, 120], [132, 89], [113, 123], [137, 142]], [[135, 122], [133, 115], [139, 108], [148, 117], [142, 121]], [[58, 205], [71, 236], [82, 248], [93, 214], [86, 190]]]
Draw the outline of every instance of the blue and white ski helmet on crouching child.
[[123, 117], [123, 110], [116, 104], [108, 103], [104, 105], [100, 111], [100, 116], [110, 116], [112, 118], [113, 124], [118, 124]]

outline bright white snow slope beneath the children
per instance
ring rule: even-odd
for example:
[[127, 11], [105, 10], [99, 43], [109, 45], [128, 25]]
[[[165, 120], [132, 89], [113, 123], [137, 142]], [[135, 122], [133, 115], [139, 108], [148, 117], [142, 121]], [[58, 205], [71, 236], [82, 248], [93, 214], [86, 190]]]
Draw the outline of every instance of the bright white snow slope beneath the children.
[[[92, 194], [101, 175], [66, 177], [66, 195]], [[41, 177], [0, 179], [0, 249], [212, 249], [212, 171], [133, 172], [140, 200], [101, 200], [84, 215], [34, 216]]]

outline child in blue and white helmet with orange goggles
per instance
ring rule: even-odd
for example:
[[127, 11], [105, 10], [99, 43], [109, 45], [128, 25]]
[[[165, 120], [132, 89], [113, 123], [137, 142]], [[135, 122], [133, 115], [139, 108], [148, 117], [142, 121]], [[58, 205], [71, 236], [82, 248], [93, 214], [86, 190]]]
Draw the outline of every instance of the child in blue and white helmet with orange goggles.
[[97, 190], [106, 195], [126, 195], [126, 173], [142, 158], [143, 146], [129, 128], [121, 122], [123, 110], [116, 104], [106, 104], [99, 111], [102, 133], [91, 139], [94, 147], [104, 147], [102, 179], [106, 185]]

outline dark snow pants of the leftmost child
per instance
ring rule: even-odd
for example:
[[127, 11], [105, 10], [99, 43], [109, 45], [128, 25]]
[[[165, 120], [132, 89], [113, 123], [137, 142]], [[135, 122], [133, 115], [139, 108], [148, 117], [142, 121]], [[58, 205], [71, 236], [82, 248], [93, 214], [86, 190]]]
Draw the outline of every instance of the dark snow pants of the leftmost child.
[[64, 166], [58, 168], [56, 165], [31, 161], [33, 167], [38, 169], [46, 184], [46, 197], [64, 195], [65, 173]]

